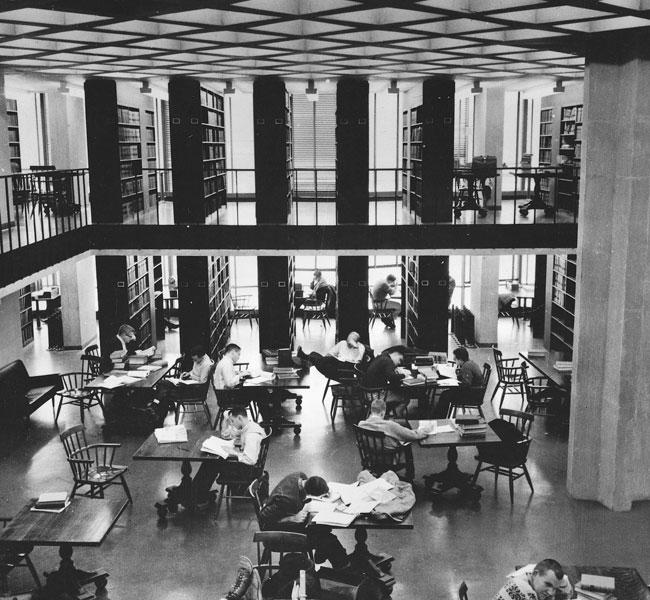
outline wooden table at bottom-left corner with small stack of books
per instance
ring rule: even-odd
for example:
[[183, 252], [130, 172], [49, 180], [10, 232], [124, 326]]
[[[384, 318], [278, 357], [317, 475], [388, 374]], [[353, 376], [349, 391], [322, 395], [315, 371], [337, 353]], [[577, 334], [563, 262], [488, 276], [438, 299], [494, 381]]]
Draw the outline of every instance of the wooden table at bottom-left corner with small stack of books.
[[127, 505], [123, 498], [97, 499], [75, 496], [63, 512], [33, 512], [35, 500], [29, 502], [0, 534], [0, 543], [59, 546], [61, 563], [56, 571], [46, 573], [44, 600], [59, 598], [94, 598], [82, 588], [94, 583], [98, 590], [106, 587], [105, 571], [82, 571], [72, 562], [74, 546], [101, 546]]

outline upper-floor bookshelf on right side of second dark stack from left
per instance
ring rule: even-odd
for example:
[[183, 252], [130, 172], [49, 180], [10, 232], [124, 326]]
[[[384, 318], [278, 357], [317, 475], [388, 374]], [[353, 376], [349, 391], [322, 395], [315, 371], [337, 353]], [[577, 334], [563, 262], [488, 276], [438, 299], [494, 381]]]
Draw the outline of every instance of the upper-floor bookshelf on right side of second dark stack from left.
[[201, 88], [203, 199], [209, 217], [226, 204], [226, 128], [223, 96]]

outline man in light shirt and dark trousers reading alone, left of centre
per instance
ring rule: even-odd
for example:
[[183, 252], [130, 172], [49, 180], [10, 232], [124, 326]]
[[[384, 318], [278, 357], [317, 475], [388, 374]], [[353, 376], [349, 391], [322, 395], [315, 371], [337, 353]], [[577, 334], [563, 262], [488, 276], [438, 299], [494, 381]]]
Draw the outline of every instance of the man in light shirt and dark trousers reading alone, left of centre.
[[207, 502], [210, 488], [219, 473], [226, 477], [252, 480], [255, 474], [248, 467], [257, 463], [265, 435], [265, 431], [257, 423], [249, 420], [245, 407], [232, 408], [220, 437], [234, 440], [235, 451], [227, 460], [201, 463], [192, 480], [192, 497], [195, 502]]

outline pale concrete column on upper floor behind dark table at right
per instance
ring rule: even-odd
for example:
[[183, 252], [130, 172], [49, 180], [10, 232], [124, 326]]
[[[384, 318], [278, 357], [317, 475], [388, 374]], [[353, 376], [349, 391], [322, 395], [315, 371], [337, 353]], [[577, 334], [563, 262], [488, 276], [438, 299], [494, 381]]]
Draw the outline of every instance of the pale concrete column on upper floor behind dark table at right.
[[[497, 167], [503, 164], [504, 110], [505, 88], [486, 87], [474, 96], [474, 155], [496, 156]], [[499, 177], [488, 206], [501, 206]]]

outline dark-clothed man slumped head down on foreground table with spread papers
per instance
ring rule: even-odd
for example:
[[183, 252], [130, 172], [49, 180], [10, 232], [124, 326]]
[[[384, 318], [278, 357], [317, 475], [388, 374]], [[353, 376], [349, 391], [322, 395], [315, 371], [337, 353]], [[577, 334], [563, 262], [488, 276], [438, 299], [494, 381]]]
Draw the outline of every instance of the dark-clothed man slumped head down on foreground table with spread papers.
[[310, 546], [315, 550], [316, 563], [329, 560], [334, 569], [342, 569], [348, 566], [345, 548], [329, 527], [306, 526], [307, 513], [303, 510], [307, 495], [323, 496], [328, 492], [327, 482], [322, 477], [291, 473], [269, 494], [260, 512], [260, 524], [267, 531], [306, 534]]

